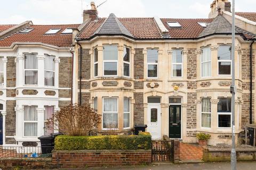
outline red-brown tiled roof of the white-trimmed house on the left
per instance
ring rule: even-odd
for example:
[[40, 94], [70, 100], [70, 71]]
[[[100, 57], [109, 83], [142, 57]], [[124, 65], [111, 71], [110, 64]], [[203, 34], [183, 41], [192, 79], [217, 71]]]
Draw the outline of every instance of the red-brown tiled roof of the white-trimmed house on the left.
[[[0, 40], [0, 47], [9, 47], [13, 43], [43, 43], [56, 47], [70, 47], [72, 44], [72, 34], [61, 33], [66, 28], [77, 28], [79, 24], [65, 25], [29, 25], [26, 28], [31, 28], [28, 33], [20, 33], [20, 31]], [[50, 29], [60, 29], [54, 35], [46, 35]]]

